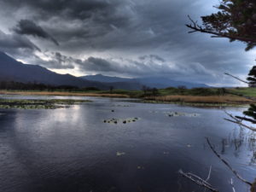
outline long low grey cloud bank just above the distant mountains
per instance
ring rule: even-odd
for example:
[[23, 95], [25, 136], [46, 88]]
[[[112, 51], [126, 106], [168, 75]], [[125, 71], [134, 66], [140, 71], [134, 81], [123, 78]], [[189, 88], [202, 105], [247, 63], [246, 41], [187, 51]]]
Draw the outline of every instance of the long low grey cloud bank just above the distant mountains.
[[87, 60], [76, 60], [75, 62], [86, 72], [107, 73], [109, 75], [122, 73], [126, 76], [166, 76], [172, 78], [197, 75], [198, 79], [213, 78], [213, 74], [200, 63], [189, 63], [186, 67], [178, 66], [161, 60], [157, 55], [144, 55], [143, 60], [141, 57], [137, 60], [89, 57]]

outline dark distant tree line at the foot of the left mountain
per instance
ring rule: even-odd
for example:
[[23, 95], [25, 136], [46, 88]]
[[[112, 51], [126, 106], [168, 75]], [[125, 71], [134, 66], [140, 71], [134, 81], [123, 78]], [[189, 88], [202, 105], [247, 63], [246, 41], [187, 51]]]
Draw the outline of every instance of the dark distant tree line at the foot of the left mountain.
[[66, 91], [83, 91], [83, 90], [99, 90], [96, 87], [79, 88], [72, 85], [52, 85], [33, 83], [20, 83], [15, 81], [0, 81], [0, 90], [66, 90]]

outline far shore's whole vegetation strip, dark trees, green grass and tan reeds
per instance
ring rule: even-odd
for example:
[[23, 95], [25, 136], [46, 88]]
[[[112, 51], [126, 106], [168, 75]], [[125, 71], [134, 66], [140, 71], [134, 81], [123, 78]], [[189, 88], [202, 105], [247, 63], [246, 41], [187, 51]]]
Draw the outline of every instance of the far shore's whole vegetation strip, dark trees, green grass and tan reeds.
[[[235, 94], [234, 94], [235, 93]], [[175, 103], [192, 106], [234, 106], [247, 105], [252, 101], [236, 95], [256, 96], [253, 88], [192, 88], [184, 86], [142, 90], [99, 90], [95, 87], [78, 88], [69, 85], [53, 86], [36, 83], [0, 82], [0, 95], [25, 96], [105, 96], [117, 98], [138, 98], [137, 102]]]

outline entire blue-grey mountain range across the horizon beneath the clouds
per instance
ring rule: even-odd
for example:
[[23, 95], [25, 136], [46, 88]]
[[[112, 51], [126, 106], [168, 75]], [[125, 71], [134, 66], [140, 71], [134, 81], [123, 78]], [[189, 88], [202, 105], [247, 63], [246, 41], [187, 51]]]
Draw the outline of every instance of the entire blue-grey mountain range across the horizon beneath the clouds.
[[125, 79], [109, 77], [102, 74], [75, 77], [71, 74], [59, 74], [49, 71], [38, 65], [24, 64], [0, 51], [0, 81], [15, 81], [22, 83], [41, 83], [51, 85], [72, 85], [77, 87], [96, 87], [108, 90], [114, 89], [140, 90], [143, 85], [155, 88], [177, 87], [184, 85], [187, 88], [207, 87], [207, 84], [174, 81], [162, 77], [149, 77], [140, 79]]

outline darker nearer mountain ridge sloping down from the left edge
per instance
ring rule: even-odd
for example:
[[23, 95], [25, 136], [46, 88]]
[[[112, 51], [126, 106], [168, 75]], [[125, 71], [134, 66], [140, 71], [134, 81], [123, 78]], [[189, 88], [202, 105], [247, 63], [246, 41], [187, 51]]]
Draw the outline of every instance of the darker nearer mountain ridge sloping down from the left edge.
[[77, 78], [71, 74], [59, 74], [49, 71], [45, 67], [38, 65], [23, 64], [16, 61], [9, 55], [0, 52], [0, 80], [16, 81], [22, 83], [42, 83], [51, 85], [72, 85], [77, 87], [96, 87], [108, 90], [110, 86], [115, 89], [138, 90], [140, 84], [131, 83], [101, 83], [86, 79]]

